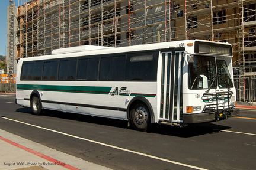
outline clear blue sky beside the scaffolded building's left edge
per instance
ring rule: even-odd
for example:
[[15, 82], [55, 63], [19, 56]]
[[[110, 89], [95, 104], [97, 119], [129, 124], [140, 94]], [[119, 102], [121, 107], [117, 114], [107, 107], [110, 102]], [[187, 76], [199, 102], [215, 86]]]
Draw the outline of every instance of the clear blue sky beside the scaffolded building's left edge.
[[[15, 6], [18, 7], [19, 0], [14, 0]], [[21, 0], [20, 0], [21, 5]], [[9, 0], [1, 0], [0, 2], [0, 55], [7, 54], [7, 6]]]

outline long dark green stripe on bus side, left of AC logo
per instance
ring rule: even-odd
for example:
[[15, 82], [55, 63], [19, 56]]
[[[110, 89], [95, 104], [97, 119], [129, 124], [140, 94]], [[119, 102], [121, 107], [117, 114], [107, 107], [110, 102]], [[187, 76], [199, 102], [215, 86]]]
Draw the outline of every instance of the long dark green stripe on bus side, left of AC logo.
[[110, 93], [111, 88], [112, 87], [17, 84], [18, 90], [40, 90], [40, 91], [57, 91], [57, 92], [90, 93], [90, 94], [108, 94]]

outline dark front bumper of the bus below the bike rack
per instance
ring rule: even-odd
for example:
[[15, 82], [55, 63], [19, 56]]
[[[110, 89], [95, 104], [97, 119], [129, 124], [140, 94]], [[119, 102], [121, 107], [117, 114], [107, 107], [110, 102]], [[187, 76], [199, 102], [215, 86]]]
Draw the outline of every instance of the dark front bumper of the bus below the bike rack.
[[[229, 117], [235, 117], [239, 116], [239, 109], [234, 108], [231, 110], [231, 115], [228, 117], [223, 116], [219, 117], [219, 120], [223, 120]], [[189, 124], [189, 123], [203, 123], [203, 122], [213, 122], [216, 121], [216, 116], [214, 113], [194, 113], [194, 114], [183, 114], [183, 123]]]

